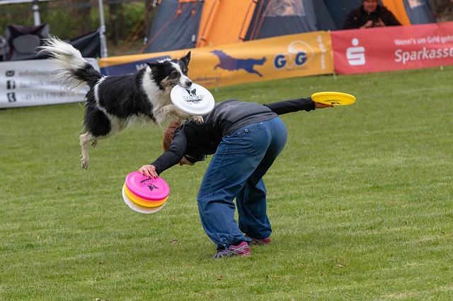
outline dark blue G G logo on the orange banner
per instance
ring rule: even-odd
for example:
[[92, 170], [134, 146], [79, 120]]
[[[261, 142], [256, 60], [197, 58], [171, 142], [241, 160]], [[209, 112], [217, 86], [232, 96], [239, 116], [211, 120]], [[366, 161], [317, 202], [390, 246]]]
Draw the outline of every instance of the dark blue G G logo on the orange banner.
[[287, 67], [297, 68], [308, 64], [314, 57], [314, 50], [306, 42], [294, 41], [288, 46], [288, 52], [280, 53], [274, 57], [275, 69]]

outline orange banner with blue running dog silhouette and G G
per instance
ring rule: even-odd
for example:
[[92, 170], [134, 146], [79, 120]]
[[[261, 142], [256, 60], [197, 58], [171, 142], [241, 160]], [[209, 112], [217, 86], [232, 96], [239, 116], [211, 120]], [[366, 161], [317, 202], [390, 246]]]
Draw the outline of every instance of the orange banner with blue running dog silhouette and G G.
[[105, 75], [131, 73], [143, 68], [145, 61], [178, 59], [189, 50], [188, 76], [206, 88], [333, 73], [331, 37], [324, 31], [219, 47], [108, 57], [99, 59], [99, 66]]

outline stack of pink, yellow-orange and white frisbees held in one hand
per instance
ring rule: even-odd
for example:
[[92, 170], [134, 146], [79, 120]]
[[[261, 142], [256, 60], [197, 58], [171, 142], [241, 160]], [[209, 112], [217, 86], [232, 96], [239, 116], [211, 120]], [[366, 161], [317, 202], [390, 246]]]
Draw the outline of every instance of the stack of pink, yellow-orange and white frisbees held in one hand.
[[122, 198], [138, 213], [155, 213], [164, 208], [170, 187], [161, 177], [149, 178], [139, 172], [127, 175], [122, 186]]

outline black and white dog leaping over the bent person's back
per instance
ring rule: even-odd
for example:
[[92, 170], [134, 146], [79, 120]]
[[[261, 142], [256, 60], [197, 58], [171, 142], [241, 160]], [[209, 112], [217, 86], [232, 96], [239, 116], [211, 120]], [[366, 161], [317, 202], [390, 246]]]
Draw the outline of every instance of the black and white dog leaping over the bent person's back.
[[[48, 52], [58, 66], [57, 76], [64, 77], [63, 85], [79, 91], [88, 85], [86, 93], [84, 128], [80, 136], [81, 165], [88, 167], [87, 143], [96, 146], [98, 139], [109, 138], [137, 119], [164, 126], [172, 119], [190, 119], [193, 116], [178, 110], [171, 102], [170, 93], [175, 85], [190, 88], [187, 76], [190, 52], [180, 59], [153, 61], [133, 74], [103, 76], [89, 64], [79, 50], [57, 37], [46, 40], [41, 52]], [[202, 117], [193, 117], [203, 122]]]

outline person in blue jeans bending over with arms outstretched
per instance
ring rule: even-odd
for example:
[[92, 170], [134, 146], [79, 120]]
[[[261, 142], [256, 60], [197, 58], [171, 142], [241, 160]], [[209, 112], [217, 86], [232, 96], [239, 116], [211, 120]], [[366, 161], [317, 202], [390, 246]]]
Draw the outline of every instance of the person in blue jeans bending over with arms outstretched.
[[287, 141], [286, 126], [277, 115], [324, 107], [331, 105], [311, 98], [267, 105], [218, 102], [202, 124], [171, 124], [164, 134], [164, 153], [138, 171], [157, 177], [173, 165], [194, 165], [212, 155], [197, 195], [202, 227], [217, 245], [212, 258], [250, 255], [249, 244], [268, 244], [272, 232], [263, 176]]

